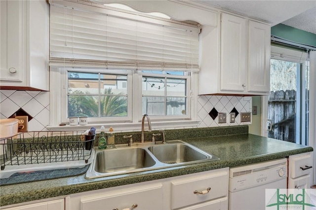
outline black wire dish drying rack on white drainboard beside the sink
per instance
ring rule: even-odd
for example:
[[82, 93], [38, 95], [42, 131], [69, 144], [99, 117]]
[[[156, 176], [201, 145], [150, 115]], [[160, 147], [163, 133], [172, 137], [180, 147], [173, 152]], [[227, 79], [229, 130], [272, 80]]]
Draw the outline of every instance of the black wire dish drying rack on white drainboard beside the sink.
[[95, 135], [33, 131], [0, 140], [0, 178], [21, 172], [82, 168], [93, 161]]

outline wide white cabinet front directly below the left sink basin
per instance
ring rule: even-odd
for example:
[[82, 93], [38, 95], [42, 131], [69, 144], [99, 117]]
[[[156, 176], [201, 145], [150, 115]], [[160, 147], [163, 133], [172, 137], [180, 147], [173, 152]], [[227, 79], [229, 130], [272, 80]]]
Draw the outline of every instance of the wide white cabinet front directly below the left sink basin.
[[[162, 210], [162, 184], [110, 190], [80, 199], [80, 210]], [[137, 207], [136, 207], [137, 206]]]

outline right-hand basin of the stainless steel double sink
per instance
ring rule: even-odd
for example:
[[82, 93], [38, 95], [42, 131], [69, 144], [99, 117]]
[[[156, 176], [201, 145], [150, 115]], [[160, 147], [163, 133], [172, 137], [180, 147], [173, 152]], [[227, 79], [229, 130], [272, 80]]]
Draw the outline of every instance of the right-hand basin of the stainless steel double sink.
[[177, 164], [207, 159], [207, 155], [183, 143], [161, 144], [148, 148], [162, 163]]

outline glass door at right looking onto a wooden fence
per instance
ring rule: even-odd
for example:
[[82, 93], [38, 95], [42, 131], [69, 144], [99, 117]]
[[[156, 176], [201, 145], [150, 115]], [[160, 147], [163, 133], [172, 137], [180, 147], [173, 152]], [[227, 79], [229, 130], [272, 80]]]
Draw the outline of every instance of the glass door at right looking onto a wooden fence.
[[270, 95], [264, 101], [268, 104], [268, 137], [308, 145], [307, 53], [272, 46], [271, 55]]

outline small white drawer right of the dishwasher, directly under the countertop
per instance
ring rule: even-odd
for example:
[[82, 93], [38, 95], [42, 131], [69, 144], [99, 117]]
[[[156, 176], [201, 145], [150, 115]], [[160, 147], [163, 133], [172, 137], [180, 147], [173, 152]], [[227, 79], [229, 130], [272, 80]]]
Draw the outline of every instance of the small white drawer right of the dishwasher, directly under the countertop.
[[296, 178], [302, 175], [307, 175], [312, 172], [312, 157], [311, 153], [293, 155], [290, 157], [291, 177]]

